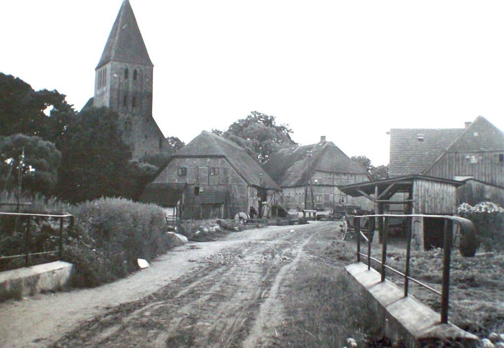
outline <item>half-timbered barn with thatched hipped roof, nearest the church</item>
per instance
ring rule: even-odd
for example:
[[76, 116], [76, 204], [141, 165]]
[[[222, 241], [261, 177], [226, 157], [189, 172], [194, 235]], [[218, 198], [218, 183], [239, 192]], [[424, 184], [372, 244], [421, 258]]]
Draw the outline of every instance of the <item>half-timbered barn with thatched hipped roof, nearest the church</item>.
[[157, 199], [163, 199], [181, 184], [183, 199], [177, 213], [181, 219], [233, 218], [248, 213], [250, 207], [268, 217], [280, 191], [242, 148], [205, 130], [172, 157], [146, 190], [159, 188]]

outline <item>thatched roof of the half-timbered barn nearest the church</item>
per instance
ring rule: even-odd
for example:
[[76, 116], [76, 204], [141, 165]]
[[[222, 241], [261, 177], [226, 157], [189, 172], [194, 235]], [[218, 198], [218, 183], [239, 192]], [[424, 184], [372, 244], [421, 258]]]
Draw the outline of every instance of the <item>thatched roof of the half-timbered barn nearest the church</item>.
[[222, 157], [247, 184], [280, 190], [280, 187], [245, 150], [222, 136], [206, 130], [178, 150], [174, 157]]

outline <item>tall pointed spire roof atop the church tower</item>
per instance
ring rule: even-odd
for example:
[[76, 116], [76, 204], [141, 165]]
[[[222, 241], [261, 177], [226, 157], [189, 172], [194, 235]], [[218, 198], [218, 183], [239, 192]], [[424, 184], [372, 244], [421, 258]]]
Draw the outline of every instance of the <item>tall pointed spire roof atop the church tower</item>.
[[111, 60], [154, 66], [149, 53], [147, 53], [147, 47], [145, 47], [144, 39], [129, 0], [122, 2], [96, 68]]

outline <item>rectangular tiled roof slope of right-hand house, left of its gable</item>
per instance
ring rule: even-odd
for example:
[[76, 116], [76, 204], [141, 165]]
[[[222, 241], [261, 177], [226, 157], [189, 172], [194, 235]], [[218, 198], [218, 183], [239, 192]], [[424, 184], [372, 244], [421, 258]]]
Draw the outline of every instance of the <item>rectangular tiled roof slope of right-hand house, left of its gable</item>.
[[392, 128], [389, 175], [422, 173], [463, 131], [464, 128]]

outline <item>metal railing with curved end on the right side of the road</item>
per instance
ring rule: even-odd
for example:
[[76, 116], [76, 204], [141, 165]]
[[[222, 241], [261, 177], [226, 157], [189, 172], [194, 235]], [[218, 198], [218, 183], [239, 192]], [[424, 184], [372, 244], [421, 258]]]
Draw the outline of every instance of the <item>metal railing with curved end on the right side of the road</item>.
[[[371, 256], [371, 243], [370, 238], [367, 238], [360, 231], [360, 219], [361, 218], [381, 218], [383, 219], [382, 224], [382, 260], [376, 259]], [[443, 241], [443, 281], [442, 281], [442, 290], [439, 292], [436, 289], [424, 284], [413, 277], [410, 276], [410, 258], [411, 258], [411, 239], [412, 239], [412, 218], [433, 218], [433, 219], [444, 219], [444, 241]], [[404, 273], [387, 265], [387, 241], [388, 241], [388, 218], [410, 218], [409, 224], [407, 225], [407, 241], [406, 241], [406, 266]], [[450, 227], [451, 224], [448, 224], [448, 220], [457, 223], [460, 226], [460, 231], [468, 230], [473, 227], [473, 224], [470, 220], [455, 217], [450, 215], [423, 215], [423, 214], [410, 214], [410, 215], [391, 215], [391, 214], [380, 214], [380, 215], [362, 215], [354, 217], [354, 226], [355, 233], [357, 234], [357, 262], [360, 262], [361, 256], [367, 257], [367, 269], [371, 269], [371, 260], [379, 263], [381, 265], [380, 273], [381, 273], [381, 281], [385, 281], [386, 270], [389, 269], [392, 272], [399, 274], [404, 277], [404, 297], [408, 296], [408, 288], [409, 282], [413, 282], [418, 284], [419, 286], [430, 290], [431, 292], [441, 296], [441, 323], [448, 323], [448, 301], [450, 295], [450, 261], [451, 261], [451, 253], [452, 253], [452, 242], [453, 242], [453, 231]], [[361, 252], [360, 248], [360, 238], [363, 237], [367, 241], [367, 254]]]

